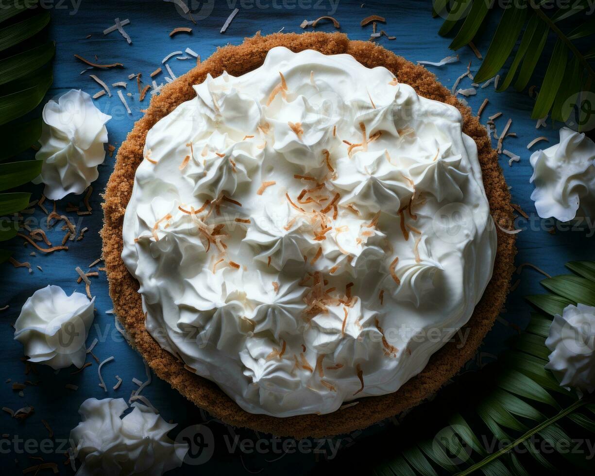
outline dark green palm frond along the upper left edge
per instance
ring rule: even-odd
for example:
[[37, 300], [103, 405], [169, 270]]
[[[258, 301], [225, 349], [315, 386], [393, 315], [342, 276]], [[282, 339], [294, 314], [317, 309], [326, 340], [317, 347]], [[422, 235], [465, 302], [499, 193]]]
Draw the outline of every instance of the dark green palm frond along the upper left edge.
[[[4, 143], [0, 162], [35, 145], [41, 134], [41, 120], [20, 121], [33, 111], [52, 84], [49, 64], [54, 57], [53, 42], [38, 40], [49, 23], [48, 12], [33, 11], [36, 1], [15, 0], [0, 11], [0, 136]], [[41, 163], [25, 160], [0, 164], [0, 191], [35, 179]], [[12, 239], [19, 224], [7, 221], [27, 207], [30, 193], [0, 193], [0, 242]], [[0, 250], [0, 263], [11, 253]]]

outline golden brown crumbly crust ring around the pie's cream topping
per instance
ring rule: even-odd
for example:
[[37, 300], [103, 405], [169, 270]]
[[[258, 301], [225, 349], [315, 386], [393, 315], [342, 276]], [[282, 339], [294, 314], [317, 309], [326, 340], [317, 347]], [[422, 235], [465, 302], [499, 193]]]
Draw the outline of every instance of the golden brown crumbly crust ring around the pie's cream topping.
[[219, 387], [205, 378], [192, 374], [183, 363], [161, 349], [145, 329], [139, 284], [130, 275], [121, 259], [123, 247], [122, 223], [126, 205], [130, 200], [134, 173], [143, 159], [143, 146], [147, 131], [162, 117], [169, 114], [181, 102], [195, 97], [193, 84], [202, 83], [206, 74], [217, 77], [224, 70], [233, 76], [240, 76], [259, 67], [267, 52], [275, 46], [286, 46], [292, 51], [315, 49], [323, 54], [347, 53], [361, 64], [372, 68], [384, 66], [392, 71], [399, 82], [407, 83], [425, 98], [435, 99], [453, 105], [464, 118], [464, 132], [477, 143], [483, 181], [490, 210], [501, 226], [511, 228], [513, 221], [511, 196], [506, 186], [498, 156], [491, 148], [486, 129], [481, 126], [471, 109], [459, 103], [450, 92], [437, 82], [434, 74], [424, 67], [414, 65], [371, 42], [350, 41], [342, 33], [295, 33], [246, 38], [239, 46], [225, 46], [208, 60], [197, 65], [184, 76], [162, 89], [160, 95], [151, 99], [145, 116], [134, 124], [133, 130], [122, 143], [117, 154], [114, 173], [106, 190], [103, 239], [103, 258], [109, 280], [109, 294], [114, 301], [114, 311], [131, 336], [130, 343], [146, 359], [150, 367], [183, 396], [205, 409], [214, 417], [238, 427], [249, 427], [277, 436], [325, 437], [347, 433], [392, 417], [405, 409], [418, 405], [425, 397], [436, 392], [453, 377], [475, 353], [481, 340], [490, 330], [508, 294], [509, 281], [513, 271], [516, 253], [515, 237], [497, 229], [498, 245], [493, 277], [480, 303], [466, 324], [469, 328], [465, 346], [450, 342], [434, 353], [424, 370], [411, 378], [397, 392], [365, 397], [349, 408], [327, 415], [300, 415], [277, 418], [254, 415], [242, 410]]

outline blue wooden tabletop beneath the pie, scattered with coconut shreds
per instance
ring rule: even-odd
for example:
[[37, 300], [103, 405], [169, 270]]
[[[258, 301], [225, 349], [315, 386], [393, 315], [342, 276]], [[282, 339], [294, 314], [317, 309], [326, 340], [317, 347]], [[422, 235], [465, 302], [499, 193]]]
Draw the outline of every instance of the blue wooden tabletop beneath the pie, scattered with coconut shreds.
[[[103, 112], [112, 116], [107, 127], [109, 143], [116, 148], [123, 142], [134, 121], [142, 116], [140, 109], [146, 108], [148, 104], [148, 99], [143, 103], [139, 102], [136, 82], [130, 81], [127, 76], [140, 72], [143, 79], [148, 81], [149, 74], [162, 66], [162, 58], [176, 50], [183, 51], [190, 47], [202, 58], [207, 58], [218, 46], [227, 43], [238, 44], [245, 36], [252, 36], [257, 31], [262, 34], [281, 29], [284, 32], [302, 32], [299, 25], [303, 20], [314, 20], [328, 14], [340, 21], [340, 31], [347, 33], [351, 39], [367, 40], [371, 27], [364, 29], [359, 26], [359, 22], [368, 15], [380, 14], [387, 20], [384, 29], [389, 35], [396, 36], [396, 39], [388, 40], [382, 37], [379, 42], [406, 59], [439, 61], [452, 53], [447, 48], [450, 40], [437, 35], [441, 20], [431, 18], [431, 2], [401, 1], [395, 2], [394, 5], [386, 1], [365, 2], [362, 6], [361, 0], [211, 0], [202, 2], [203, 9], [201, 14], [196, 15], [196, 25], [181, 17], [173, 3], [161, 0], [83, 0], [79, 5], [70, 1], [64, 4], [58, 1], [50, 3], [53, 5], [51, 37], [57, 42], [57, 53], [54, 63], [54, 86], [47, 99], [61, 95], [71, 88], [80, 88], [93, 95], [101, 88], [90, 79], [90, 73], [98, 74], [110, 85], [120, 81], [129, 82], [126, 92], [130, 92], [131, 96], [125, 97], [130, 105], [131, 115], [127, 114], [115, 94], [116, 87], [111, 88], [114, 93], [111, 98], [105, 95], [96, 101], [96, 105]], [[199, 2], [196, 4], [199, 5]], [[227, 32], [221, 34], [221, 26], [236, 7], [240, 8], [239, 13]], [[124, 29], [132, 39], [131, 45], [118, 32], [105, 36], [102, 34], [104, 29], [114, 24], [116, 17], [130, 20], [130, 24]], [[192, 34], [168, 36], [171, 30], [180, 26], [192, 27]], [[493, 25], [488, 26], [489, 28], [493, 28]], [[334, 27], [330, 23], [321, 23], [317, 29], [333, 31]], [[484, 54], [489, 44], [488, 36], [477, 42], [478, 48]], [[550, 49], [551, 47], [546, 46]], [[76, 60], [74, 54], [92, 61], [96, 57], [100, 63], [122, 62], [124, 69], [85, 71], [80, 74], [86, 65]], [[465, 47], [459, 51], [459, 55], [461, 61], [455, 64], [428, 67], [448, 87], [465, 71], [469, 61], [472, 72], [477, 71], [479, 67], [480, 61], [471, 49]], [[169, 64], [174, 74], [178, 75], [192, 68], [195, 61], [170, 60]], [[158, 83], [164, 82], [164, 74], [155, 79]], [[470, 83], [471, 81], [466, 79], [462, 82], [462, 87], [470, 87]], [[566, 261], [594, 259], [595, 247], [588, 230], [564, 230], [563, 226], [560, 227], [560, 224], [552, 220], [541, 220], [537, 217], [530, 200], [533, 186], [529, 179], [533, 170], [529, 163], [531, 152], [526, 146], [534, 137], [542, 135], [548, 137], [550, 143], [557, 143], [560, 125], [552, 126], [551, 121], [547, 121], [545, 129], [536, 130], [536, 121], [530, 119], [533, 99], [527, 92], [517, 93], [511, 90], [496, 93], [493, 86], [487, 87], [479, 89], [477, 96], [468, 98], [469, 105], [477, 111], [484, 98], [488, 98], [490, 103], [483, 112], [483, 122], [487, 121], [489, 115], [502, 112], [502, 117], [496, 123], [498, 130], [501, 131], [506, 120], [512, 118], [511, 131], [518, 134], [516, 138], [506, 139], [505, 148], [521, 156], [521, 161], [509, 167], [508, 157], [502, 156], [500, 159], [506, 180], [511, 186], [513, 202], [518, 203], [531, 217], [530, 223], [517, 224], [524, 230], [518, 234], [517, 264], [531, 262], [550, 274], [561, 274], [564, 273]], [[534, 146], [533, 150], [537, 147]], [[32, 156], [33, 152], [27, 152], [25, 155]], [[93, 351], [99, 359], [115, 357], [114, 361], [105, 365], [102, 374], [110, 383], [115, 383], [114, 375], [123, 378], [120, 389], [114, 391], [108, 385], [109, 391], [106, 393], [98, 386], [95, 362], [91, 367], [74, 375], [71, 374], [73, 369], [63, 369], [55, 373], [43, 365], [36, 366], [38, 374], [25, 375], [25, 365], [20, 361], [23, 347], [12, 340], [11, 324], [18, 317], [24, 301], [35, 290], [48, 284], [57, 284], [69, 294], [73, 290], [84, 293], [84, 284], [76, 283], [78, 275], [74, 268], [80, 266], [87, 270], [88, 265], [101, 255], [101, 239], [98, 232], [102, 226], [102, 212], [99, 194], [111, 174], [114, 160], [115, 155], [107, 156], [104, 164], [99, 167], [99, 179], [93, 183], [94, 192], [90, 200], [92, 215], [73, 217], [78, 221], [77, 227], [89, 228], [83, 240], [70, 242], [70, 249], [66, 253], [47, 256], [42, 253], [30, 256], [33, 250], [31, 246], [24, 247], [22, 240], [13, 240], [9, 246], [14, 249], [14, 257], [18, 261], [29, 261], [33, 273], [29, 274], [26, 268], [14, 269], [10, 264], [2, 265], [0, 268], [0, 307], [10, 305], [7, 310], [0, 311], [4, 325], [4, 331], [0, 334], [2, 378], [21, 383], [25, 380], [39, 381], [38, 386], [28, 386], [24, 390], [24, 396], [19, 396], [12, 390], [11, 382], [2, 383], [2, 406], [12, 409], [26, 405], [35, 407], [35, 414], [24, 422], [11, 419], [8, 414], [0, 416], [0, 434], [8, 435], [0, 440], [0, 462], [3, 468], [14, 468], [11, 469], [14, 474], [20, 474], [22, 469], [36, 464], [37, 461], [30, 459], [30, 456], [42, 456], [45, 461], [57, 462], [61, 474], [72, 474], [71, 469], [63, 464], [63, 453], [68, 446], [67, 439], [71, 428], [80, 421], [77, 414], [80, 403], [89, 397], [128, 399], [130, 392], [137, 388], [132, 379], [146, 378], [142, 359], [117, 331], [114, 316], [106, 314], [106, 311], [112, 308], [112, 304], [105, 273], [91, 278], [92, 293], [96, 296], [96, 318], [87, 342], [90, 343], [95, 338], [99, 340]], [[34, 188], [33, 198], [39, 198], [41, 192], [41, 186]], [[63, 211], [67, 202], [77, 199], [68, 196], [58, 202], [58, 209]], [[49, 202], [46, 202], [46, 205], [50, 206]], [[45, 224], [46, 215], [40, 209], [37, 209], [34, 215], [27, 215], [27, 218], [29, 217], [42, 227]], [[555, 234], [548, 233], [549, 228], [556, 226], [559, 229]], [[62, 236], [64, 232], [59, 229], [48, 231], [48, 237], [52, 242], [60, 242]], [[43, 271], [37, 268], [38, 265]], [[530, 306], [523, 296], [541, 291], [540, 274], [525, 268], [518, 277], [521, 278], [521, 283], [509, 297], [502, 320], [494, 326], [480, 349], [484, 358], [489, 359], [490, 355], [496, 355], [503, 346], [503, 340], [514, 332], [508, 323], [522, 326], [527, 322]], [[516, 278], [515, 276], [513, 280]], [[67, 389], [66, 384], [74, 384], [78, 386], [78, 390]], [[192, 425], [204, 425], [198, 430], [200, 438], [197, 441], [203, 448], [202, 453], [197, 451], [195, 454], [193, 462], [196, 465], [184, 465], [168, 474], [195, 474], [197, 471], [206, 471], [203, 474], [212, 474], [214, 471], [221, 474], [303, 474], [313, 468], [318, 460], [333, 458], [337, 449], [353, 447], [352, 445], [357, 445], [358, 441], [369, 438], [387, 425], [394, 424], [394, 421], [388, 421], [364, 432], [358, 431], [338, 439], [302, 441], [298, 444], [293, 440], [275, 439], [249, 430], [234, 430], [213, 421], [209, 415], [199, 411], [158, 378], [153, 379], [143, 390], [143, 394], [161, 411], [166, 420], [171, 419], [179, 423], [179, 427], [173, 431], [174, 435]], [[48, 430], [43, 426], [42, 419], [53, 429], [54, 440], [48, 438]]]

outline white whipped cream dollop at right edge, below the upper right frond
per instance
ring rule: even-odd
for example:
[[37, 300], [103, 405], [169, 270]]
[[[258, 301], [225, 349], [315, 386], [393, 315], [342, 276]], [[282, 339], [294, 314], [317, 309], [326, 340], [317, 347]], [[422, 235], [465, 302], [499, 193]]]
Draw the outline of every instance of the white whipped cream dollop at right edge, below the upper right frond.
[[531, 154], [531, 200], [541, 218], [595, 217], [595, 142], [562, 127], [560, 142]]

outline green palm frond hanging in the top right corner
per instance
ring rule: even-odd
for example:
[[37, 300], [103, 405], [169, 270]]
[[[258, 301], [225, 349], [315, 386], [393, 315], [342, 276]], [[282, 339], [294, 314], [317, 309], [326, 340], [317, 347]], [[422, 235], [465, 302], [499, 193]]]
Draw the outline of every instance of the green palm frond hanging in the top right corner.
[[[577, 93], [590, 91], [595, 84], [595, 72], [589, 62], [595, 53], [591, 49], [583, 54], [577, 47], [577, 40], [595, 35], [595, 18], [587, 15], [590, 8], [587, 0], [564, 2], [552, 13], [551, 7], [546, 0], [508, 2], [474, 80], [480, 83], [496, 76], [511, 57], [520, 37], [508, 73], [503, 75], [497, 90], [503, 91], [511, 84], [516, 90], [525, 89], [543, 57], [548, 37], [555, 37], [556, 44], [549, 55], [547, 71], [531, 117], [540, 119], [551, 114], [553, 120], [563, 122], [573, 111], [582, 110], [585, 98]], [[434, 2], [433, 14], [445, 17], [440, 35], [456, 32], [449, 46], [456, 50], [474, 40], [486, 18], [494, 11], [499, 9], [487, 0], [441, 0]], [[572, 29], [561, 26], [568, 18], [572, 18]], [[581, 130], [581, 119], [575, 119], [578, 130]]]

